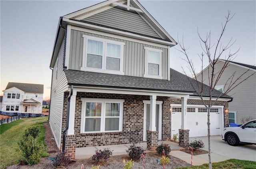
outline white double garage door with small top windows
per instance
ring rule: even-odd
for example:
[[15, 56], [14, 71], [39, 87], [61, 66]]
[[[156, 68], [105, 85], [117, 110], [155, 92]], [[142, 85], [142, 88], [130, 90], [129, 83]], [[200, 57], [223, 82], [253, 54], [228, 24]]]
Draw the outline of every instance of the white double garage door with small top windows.
[[[210, 132], [211, 135], [221, 134], [220, 112], [221, 107], [210, 109]], [[187, 127], [189, 137], [207, 136], [207, 109], [205, 107], [187, 107]], [[179, 133], [181, 126], [181, 107], [172, 106], [172, 137]]]

